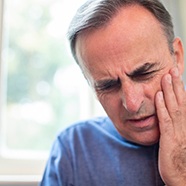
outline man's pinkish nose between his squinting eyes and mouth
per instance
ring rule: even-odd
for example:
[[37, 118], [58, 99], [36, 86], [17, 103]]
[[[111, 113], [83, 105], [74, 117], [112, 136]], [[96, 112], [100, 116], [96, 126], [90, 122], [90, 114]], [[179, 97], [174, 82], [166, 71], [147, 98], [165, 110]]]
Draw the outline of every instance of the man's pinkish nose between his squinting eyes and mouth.
[[138, 83], [125, 83], [121, 89], [122, 104], [130, 113], [137, 113], [144, 102], [144, 91]]

